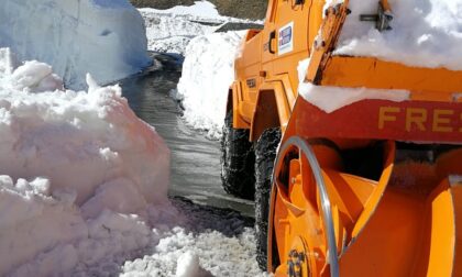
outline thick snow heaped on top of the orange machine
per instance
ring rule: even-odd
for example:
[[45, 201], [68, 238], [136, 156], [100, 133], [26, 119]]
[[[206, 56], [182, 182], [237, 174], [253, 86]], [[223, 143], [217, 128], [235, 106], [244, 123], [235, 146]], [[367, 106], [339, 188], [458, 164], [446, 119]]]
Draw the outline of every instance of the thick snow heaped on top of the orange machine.
[[375, 14], [377, 2], [350, 0], [352, 13], [334, 54], [462, 70], [462, 0], [388, 0], [393, 30], [382, 33], [373, 22], [359, 20], [360, 14]]

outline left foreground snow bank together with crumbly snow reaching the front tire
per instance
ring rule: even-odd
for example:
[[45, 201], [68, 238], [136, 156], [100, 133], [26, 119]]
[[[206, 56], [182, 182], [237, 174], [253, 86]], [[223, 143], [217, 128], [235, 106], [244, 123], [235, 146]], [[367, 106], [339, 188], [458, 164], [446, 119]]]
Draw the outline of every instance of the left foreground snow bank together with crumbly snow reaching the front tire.
[[265, 276], [250, 220], [167, 199], [169, 151], [118, 86], [20, 64], [0, 48], [0, 275]]

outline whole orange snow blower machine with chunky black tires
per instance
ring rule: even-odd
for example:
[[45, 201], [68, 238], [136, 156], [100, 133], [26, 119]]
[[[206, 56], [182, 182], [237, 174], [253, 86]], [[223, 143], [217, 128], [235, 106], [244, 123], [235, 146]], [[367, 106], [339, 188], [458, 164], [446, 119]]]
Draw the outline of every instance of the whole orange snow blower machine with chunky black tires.
[[[462, 71], [337, 55], [352, 1], [270, 0], [235, 60], [223, 187], [254, 196], [275, 276], [462, 276]], [[388, 32], [389, 2], [352, 20]]]

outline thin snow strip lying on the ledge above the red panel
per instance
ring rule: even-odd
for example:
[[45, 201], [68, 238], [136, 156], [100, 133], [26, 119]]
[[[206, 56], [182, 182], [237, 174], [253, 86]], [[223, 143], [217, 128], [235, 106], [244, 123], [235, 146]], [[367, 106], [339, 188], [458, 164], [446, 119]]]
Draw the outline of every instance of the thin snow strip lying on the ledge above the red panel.
[[367, 89], [367, 88], [341, 88], [315, 86], [305, 81], [310, 59], [304, 59], [298, 64], [298, 93], [311, 104], [327, 113], [334, 112], [345, 106], [366, 99], [389, 100], [403, 102], [409, 99], [407, 90]]

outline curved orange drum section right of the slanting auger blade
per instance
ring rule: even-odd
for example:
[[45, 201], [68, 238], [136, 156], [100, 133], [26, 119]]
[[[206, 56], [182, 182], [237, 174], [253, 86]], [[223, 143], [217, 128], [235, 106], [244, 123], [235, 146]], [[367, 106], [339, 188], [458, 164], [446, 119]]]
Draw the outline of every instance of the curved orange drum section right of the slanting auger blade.
[[341, 275], [452, 276], [453, 223], [447, 184], [428, 197], [389, 188], [364, 232], [340, 258]]

